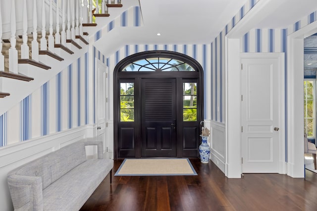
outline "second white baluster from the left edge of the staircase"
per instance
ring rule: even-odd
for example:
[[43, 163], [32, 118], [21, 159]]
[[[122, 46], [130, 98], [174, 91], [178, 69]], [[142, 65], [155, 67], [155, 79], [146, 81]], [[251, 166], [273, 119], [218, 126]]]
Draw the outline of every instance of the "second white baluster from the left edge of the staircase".
[[16, 19], [15, 19], [15, 3], [14, 0], [11, 1], [11, 16], [10, 16], [10, 29], [11, 37], [10, 43], [11, 47], [9, 48], [9, 71], [13, 73], [18, 73], [18, 51], [15, 48], [16, 38]]

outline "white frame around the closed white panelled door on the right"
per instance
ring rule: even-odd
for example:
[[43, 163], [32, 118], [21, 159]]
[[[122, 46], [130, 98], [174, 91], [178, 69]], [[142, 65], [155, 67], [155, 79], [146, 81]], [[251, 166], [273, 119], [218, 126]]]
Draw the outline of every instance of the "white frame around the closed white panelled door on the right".
[[[286, 162], [285, 162], [285, 59], [284, 53], [240, 53], [240, 63], [242, 64], [242, 59], [251, 58], [251, 59], [261, 59], [261, 58], [276, 58], [278, 60], [278, 77], [280, 79], [278, 84], [278, 92], [279, 92], [279, 133], [278, 133], [278, 173], [285, 173], [286, 171]], [[242, 72], [240, 71], [240, 92], [242, 89]], [[240, 100], [240, 108], [242, 108], [242, 101]], [[242, 125], [242, 117], [240, 119], [240, 124]], [[247, 129], [247, 128], [245, 128]], [[241, 156], [242, 156], [242, 132], [241, 132]], [[241, 172], [243, 170], [243, 164], [241, 165]], [[271, 173], [271, 172], [269, 172]]]

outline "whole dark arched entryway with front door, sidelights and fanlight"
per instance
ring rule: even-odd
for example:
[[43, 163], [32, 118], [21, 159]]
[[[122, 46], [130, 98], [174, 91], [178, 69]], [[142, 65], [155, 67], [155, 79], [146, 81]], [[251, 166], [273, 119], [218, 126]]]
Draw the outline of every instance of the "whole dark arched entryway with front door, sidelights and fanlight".
[[114, 158], [197, 157], [203, 68], [172, 51], [145, 51], [114, 69]]

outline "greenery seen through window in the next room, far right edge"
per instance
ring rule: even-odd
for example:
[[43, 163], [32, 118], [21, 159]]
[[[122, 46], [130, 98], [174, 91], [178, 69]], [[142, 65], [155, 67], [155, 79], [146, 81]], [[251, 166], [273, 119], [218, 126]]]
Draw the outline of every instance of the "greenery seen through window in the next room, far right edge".
[[316, 80], [304, 81], [304, 128], [307, 137], [315, 137], [316, 128], [316, 102], [315, 102], [315, 84]]

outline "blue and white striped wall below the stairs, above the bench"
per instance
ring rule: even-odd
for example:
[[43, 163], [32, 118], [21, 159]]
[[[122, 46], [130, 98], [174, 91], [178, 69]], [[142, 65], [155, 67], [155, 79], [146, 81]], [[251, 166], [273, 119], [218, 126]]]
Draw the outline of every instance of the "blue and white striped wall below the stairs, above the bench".
[[93, 124], [87, 53], [0, 116], [0, 146]]

